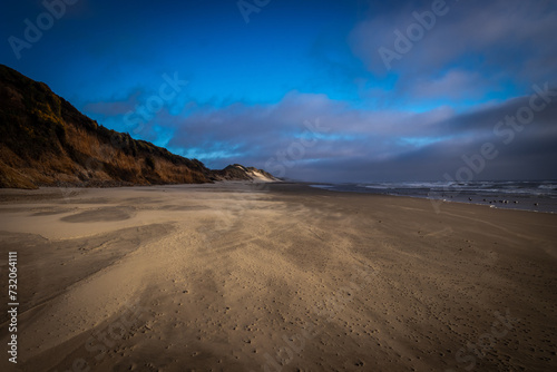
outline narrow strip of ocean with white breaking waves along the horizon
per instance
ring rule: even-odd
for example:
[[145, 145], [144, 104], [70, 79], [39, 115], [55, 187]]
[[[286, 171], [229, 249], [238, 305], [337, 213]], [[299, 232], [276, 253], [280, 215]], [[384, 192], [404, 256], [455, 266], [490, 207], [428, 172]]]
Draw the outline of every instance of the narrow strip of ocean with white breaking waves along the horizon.
[[495, 208], [557, 213], [557, 180], [382, 182], [310, 186], [331, 192], [410, 196]]

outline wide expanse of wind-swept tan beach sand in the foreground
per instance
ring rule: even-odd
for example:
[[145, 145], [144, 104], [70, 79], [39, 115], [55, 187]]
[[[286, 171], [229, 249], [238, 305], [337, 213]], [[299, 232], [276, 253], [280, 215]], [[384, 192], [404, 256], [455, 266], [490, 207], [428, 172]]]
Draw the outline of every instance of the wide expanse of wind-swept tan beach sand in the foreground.
[[295, 184], [4, 189], [0, 370], [556, 371], [556, 215]]

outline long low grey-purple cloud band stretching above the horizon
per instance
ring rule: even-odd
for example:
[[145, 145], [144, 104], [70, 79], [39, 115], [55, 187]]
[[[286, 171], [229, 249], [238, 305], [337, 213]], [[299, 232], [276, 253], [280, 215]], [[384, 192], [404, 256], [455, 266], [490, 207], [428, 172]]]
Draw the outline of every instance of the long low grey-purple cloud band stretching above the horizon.
[[[412, 114], [362, 111], [320, 95], [292, 92], [277, 105], [233, 105], [176, 120], [169, 146], [186, 154], [192, 148], [231, 154], [202, 156], [216, 167], [244, 163], [283, 169], [296, 179], [363, 182], [456, 177], [467, 166], [463, 157], [478, 158], [489, 143], [498, 155], [482, 160], [485, 169], [475, 172], [475, 179], [556, 178], [557, 94], [551, 95], [550, 104], [531, 110], [531, 121], [516, 129], [504, 125], [505, 118], [521, 109], [530, 112], [531, 96], [465, 114], [443, 108]], [[321, 129], [309, 131], [312, 127]]]

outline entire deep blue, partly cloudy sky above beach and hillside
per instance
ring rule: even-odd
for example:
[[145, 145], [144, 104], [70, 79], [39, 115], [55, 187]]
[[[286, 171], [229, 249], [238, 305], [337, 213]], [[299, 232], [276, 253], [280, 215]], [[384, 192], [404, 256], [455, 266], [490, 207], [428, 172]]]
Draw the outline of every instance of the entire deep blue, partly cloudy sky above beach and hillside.
[[307, 182], [557, 179], [557, 1], [4, 1], [0, 62], [104, 126]]

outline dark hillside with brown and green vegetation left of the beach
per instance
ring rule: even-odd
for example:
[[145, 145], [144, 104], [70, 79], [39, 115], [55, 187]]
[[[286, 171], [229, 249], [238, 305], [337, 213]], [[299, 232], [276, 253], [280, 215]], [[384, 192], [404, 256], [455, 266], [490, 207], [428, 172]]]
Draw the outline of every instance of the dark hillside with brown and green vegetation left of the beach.
[[[224, 172], [224, 169], [223, 169]], [[193, 184], [222, 177], [107, 129], [50, 88], [0, 65], [0, 187]]]

